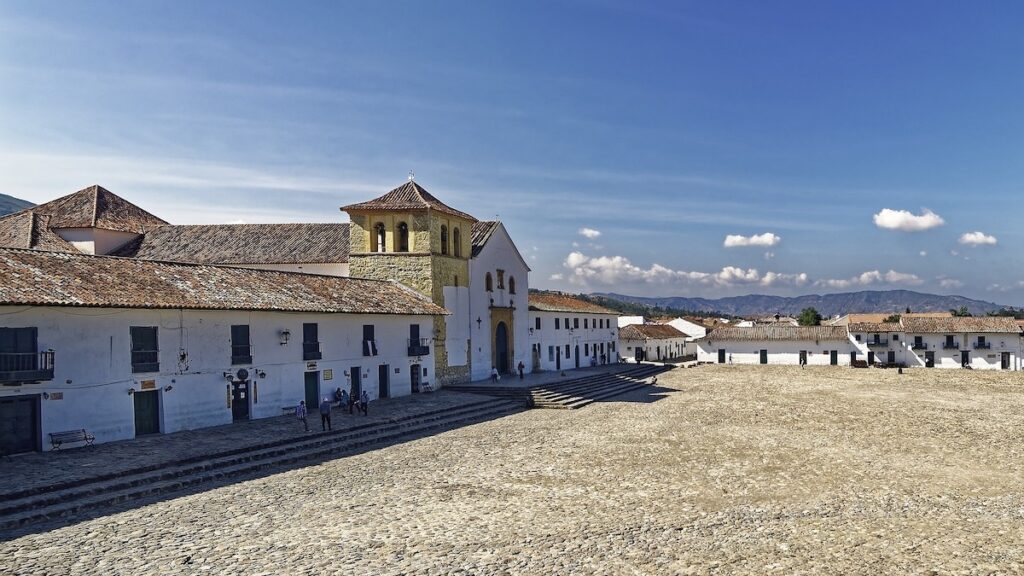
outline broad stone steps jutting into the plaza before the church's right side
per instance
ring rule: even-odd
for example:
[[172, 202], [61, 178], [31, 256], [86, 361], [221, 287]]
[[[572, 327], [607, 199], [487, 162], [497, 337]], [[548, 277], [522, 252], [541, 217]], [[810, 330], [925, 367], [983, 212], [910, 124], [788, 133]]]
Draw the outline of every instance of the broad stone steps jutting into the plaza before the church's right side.
[[650, 385], [655, 376], [671, 369], [671, 366], [645, 364], [583, 382], [539, 386], [530, 389], [530, 403], [534, 408], [574, 410]]

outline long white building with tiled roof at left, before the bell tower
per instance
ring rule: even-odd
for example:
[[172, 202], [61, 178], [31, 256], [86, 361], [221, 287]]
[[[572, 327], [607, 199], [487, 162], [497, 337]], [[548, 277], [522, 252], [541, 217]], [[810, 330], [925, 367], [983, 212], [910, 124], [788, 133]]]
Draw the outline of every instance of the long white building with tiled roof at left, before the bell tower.
[[409, 344], [446, 312], [388, 281], [0, 248], [0, 450], [371, 399], [435, 378]]

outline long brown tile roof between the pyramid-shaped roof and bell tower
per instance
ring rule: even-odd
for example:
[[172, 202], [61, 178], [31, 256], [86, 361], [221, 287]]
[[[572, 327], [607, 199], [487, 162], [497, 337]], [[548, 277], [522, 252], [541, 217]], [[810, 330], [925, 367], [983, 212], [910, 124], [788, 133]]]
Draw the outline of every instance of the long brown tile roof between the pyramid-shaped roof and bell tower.
[[203, 264], [347, 262], [348, 224], [166, 225], [112, 255]]

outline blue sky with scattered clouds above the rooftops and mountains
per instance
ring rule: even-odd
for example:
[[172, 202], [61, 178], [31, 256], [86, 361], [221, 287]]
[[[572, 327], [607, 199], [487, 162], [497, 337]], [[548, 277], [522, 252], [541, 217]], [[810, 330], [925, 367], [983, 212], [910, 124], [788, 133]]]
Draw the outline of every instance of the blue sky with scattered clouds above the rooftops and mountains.
[[1021, 22], [1015, 2], [0, 1], [0, 192], [339, 221], [415, 170], [498, 215], [534, 287], [1024, 304]]

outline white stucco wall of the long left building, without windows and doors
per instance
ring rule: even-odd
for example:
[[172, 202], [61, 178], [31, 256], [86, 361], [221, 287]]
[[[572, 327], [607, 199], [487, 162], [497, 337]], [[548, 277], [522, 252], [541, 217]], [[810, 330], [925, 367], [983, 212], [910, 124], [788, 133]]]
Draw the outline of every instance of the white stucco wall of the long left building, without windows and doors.
[[[50, 395], [50, 400], [40, 400], [42, 448], [47, 450], [51, 431], [84, 427], [96, 442], [133, 438], [134, 403], [128, 389], [141, 390], [144, 380], [154, 380], [159, 390], [162, 433], [230, 423], [223, 373], [239, 368], [247, 369], [255, 384], [251, 418], [278, 416], [283, 407], [297, 405], [304, 398], [306, 371], [321, 374], [321, 396], [348, 386], [345, 371], [356, 366], [371, 399], [378, 397], [380, 365], [389, 366], [391, 397], [412, 393], [413, 364], [427, 370], [423, 381], [434, 380], [432, 356], [407, 356], [410, 324], [420, 324], [421, 333], [429, 334], [431, 317], [0, 306], [0, 318], [3, 327], [37, 327], [39, 349], [55, 352], [53, 380], [0, 386], [0, 396]], [[323, 359], [315, 366], [302, 359], [302, 324], [307, 322], [319, 325]], [[250, 326], [252, 364], [231, 365], [234, 324]], [[375, 326], [376, 357], [362, 356], [364, 324]], [[160, 372], [132, 373], [131, 326], [158, 327]], [[283, 329], [291, 331], [287, 345], [281, 344]], [[182, 351], [184, 363], [179, 362]], [[256, 377], [257, 369], [266, 376]], [[332, 380], [324, 380], [327, 369], [333, 370]], [[54, 393], [62, 399], [56, 400]]]

